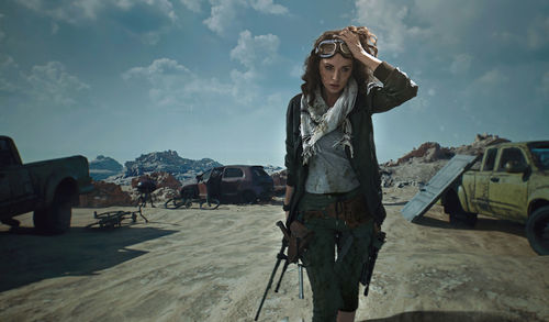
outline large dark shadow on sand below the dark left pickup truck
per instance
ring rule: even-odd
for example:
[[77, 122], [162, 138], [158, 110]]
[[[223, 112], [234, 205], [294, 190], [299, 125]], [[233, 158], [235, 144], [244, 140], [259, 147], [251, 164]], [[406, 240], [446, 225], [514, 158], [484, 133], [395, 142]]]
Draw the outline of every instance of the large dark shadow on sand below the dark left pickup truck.
[[44, 236], [32, 227], [0, 233], [0, 292], [46, 278], [93, 275], [147, 252], [127, 246], [177, 231], [122, 226], [112, 230], [72, 227]]

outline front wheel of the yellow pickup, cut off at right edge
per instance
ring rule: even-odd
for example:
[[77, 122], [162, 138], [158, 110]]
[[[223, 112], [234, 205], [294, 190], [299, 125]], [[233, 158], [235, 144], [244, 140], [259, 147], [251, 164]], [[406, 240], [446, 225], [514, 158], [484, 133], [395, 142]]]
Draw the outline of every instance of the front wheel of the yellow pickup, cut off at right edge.
[[526, 222], [526, 236], [539, 255], [549, 255], [549, 206], [534, 211]]

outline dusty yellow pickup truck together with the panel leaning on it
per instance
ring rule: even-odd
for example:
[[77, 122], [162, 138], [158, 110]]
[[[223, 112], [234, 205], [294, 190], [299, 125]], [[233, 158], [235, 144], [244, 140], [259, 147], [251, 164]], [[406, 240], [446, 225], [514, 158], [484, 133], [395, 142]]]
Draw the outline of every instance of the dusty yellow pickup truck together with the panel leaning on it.
[[525, 224], [533, 249], [549, 255], [549, 141], [501, 143], [479, 158], [455, 156], [402, 209], [413, 221], [440, 198], [450, 222], [474, 226], [478, 213]]

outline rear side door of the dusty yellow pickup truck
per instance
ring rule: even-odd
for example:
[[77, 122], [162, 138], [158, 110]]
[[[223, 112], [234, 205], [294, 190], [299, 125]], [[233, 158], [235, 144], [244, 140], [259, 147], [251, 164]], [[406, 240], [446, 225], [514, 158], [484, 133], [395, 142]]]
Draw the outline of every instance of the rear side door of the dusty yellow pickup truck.
[[497, 148], [486, 149], [481, 170], [474, 176], [474, 192], [471, 203], [479, 213], [490, 213], [490, 177], [494, 170]]

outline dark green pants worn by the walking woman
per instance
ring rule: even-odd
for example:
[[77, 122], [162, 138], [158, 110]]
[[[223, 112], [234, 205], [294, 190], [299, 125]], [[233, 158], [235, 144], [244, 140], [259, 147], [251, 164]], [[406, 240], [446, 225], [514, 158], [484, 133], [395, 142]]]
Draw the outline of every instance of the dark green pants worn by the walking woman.
[[[352, 312], [358, 308], [360, 274], [368, 258], [373, 221], [352, 230], [334, 218], [315, 218], [304, 223], [314, 231], [301, 258], [313, 291], [313, 322], [336, 321], [338, 310]], [[347, 249], [337, 260], [336, 246]]]

